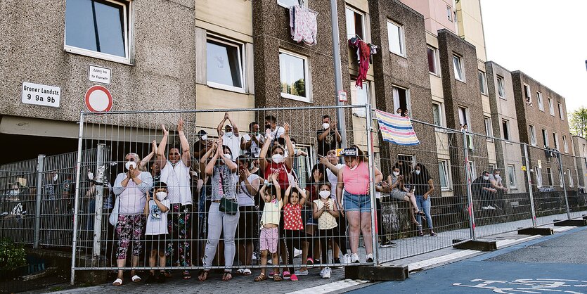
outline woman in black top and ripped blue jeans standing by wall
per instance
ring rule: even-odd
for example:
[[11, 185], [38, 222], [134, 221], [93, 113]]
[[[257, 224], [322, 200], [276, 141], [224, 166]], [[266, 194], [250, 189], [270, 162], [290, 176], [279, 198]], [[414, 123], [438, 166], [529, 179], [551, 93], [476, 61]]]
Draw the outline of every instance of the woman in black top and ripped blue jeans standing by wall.
[[[414, 172], [412, 173], [413, 186], [415, 187], [415, 203], [418, 205], [419, 210], [424, 210], [426, 215], [426, 222], [428, 223], [428, 229], [430, 229], [430, 236], [437, 236], [432, 230], [432, 216], [430, 215], [430, 196], [434, 192], [434, 181], [426, 170], [426, 167], [422, 163], [416, 163]], [[418, 222], [418, 236], [424, 236], [422, 231], [421, 216], [417, 215]]]

